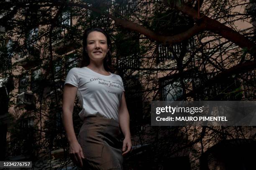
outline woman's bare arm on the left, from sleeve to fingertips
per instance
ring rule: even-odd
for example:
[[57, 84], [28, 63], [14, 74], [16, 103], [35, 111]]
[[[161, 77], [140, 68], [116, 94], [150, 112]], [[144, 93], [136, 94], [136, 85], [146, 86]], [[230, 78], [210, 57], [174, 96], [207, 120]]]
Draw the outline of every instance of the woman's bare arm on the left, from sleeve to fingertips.
[[74, 101], [77, 94], [77, 87], [73, 85], [64, 85], [63, 105], [62, 105], [62, 121], [67, 133], [69, 142], [69, 155], [76, 164], [82, 166], [82, 158], [84, 159], [83, 151], [79, 145], [73, 127], [73, 109]]

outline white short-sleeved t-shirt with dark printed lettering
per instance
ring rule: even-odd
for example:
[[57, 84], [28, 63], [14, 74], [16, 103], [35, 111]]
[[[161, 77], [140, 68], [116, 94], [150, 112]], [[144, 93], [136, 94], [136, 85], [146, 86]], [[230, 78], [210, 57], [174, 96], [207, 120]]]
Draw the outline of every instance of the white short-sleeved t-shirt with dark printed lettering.
[[69, 70], [65, 83], [77, 87], [77, 98], [82, 106], [79, 116], [102, 116], [119, 120], [119, 106], [124, 87], [122, 78], [111, 73], [102, 75], [88, 67]]

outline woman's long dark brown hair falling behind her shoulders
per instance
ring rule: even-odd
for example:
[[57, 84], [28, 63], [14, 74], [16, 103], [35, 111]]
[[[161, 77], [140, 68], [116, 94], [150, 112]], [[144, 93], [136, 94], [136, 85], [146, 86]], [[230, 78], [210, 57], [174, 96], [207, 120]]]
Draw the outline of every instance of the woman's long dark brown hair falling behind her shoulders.
[[107, 45], [108, 45], [109, 50], [107, 52], [106, 57], [104, 58], [103, 66], [104, 66], [106, 71], [113, 72], [113, 66], [112, 66], [112, 61], [111, 61], [111, 57], [112, 57], [111, 56], [111, 49], [112, 49], [111, 40], [110, 40], [110, 37], [109, 37], [108, 33], [105, 32], [104, 30], [102, 30], [101, 28], [89, 28], [89, 29], [84, 31], [84, 35], [83, 35], [83, 55], [82, 55], [82, 60], [80, 62], [80, 67], [85, 67], [85, 66], [90, 64], [90, 57], [86, 52], [86, 47], [87, 47], [87, 37], [93, 31], [101, 32], [107, 38]]

